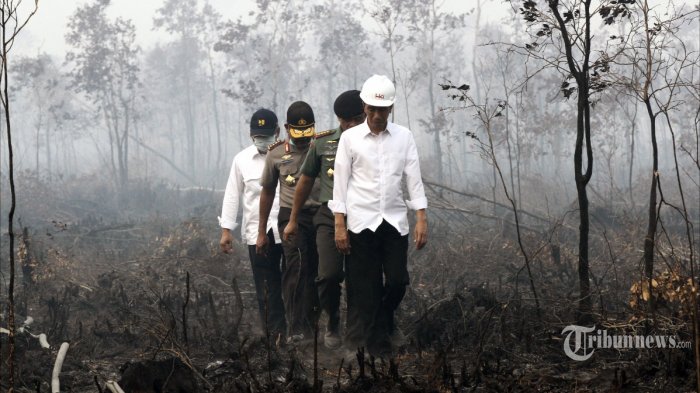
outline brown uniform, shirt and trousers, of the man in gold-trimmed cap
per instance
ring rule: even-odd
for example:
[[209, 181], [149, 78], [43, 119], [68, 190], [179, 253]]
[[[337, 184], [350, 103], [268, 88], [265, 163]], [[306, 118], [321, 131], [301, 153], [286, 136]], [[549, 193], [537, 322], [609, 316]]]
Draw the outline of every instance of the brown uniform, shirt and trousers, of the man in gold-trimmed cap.
[[[289, 222], [294, 190], [301, 177], [301, 164], [306, 149], [298, 149], [289, 142], [277, 142], [268, 148], [260, 184], [265, 188], [280, 186], [280, 211], [277, 224], [280, 233]], [[317, 182], [318, 183], [318, 182]], [[314, 279], [318, 271], [316, 231], [313, 217], [319, 207], [318, 185], [314, 184], [309, 199], [299, 212], [299, 230], [290, 241], [282, 242], [285, 266], [282, 273], [282, 296], [287, 316], [288, 336], [313, 333], [318, 296]]]

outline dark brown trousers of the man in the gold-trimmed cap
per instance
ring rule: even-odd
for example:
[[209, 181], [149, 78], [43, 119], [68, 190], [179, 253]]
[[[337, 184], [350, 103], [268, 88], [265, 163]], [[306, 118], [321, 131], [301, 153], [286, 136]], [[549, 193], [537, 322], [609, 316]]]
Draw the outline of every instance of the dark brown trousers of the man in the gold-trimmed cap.
[[[312, 337], [318, 309], [314, 280], [318, 274], [318, 251], [313, 216], [316, 209], [299, 212], [296, 236], [282, 242], [286, 266], [282, 272], [282, 296], [287, 315], [289, 335]], [[280, 208], [277, 223], [280, 233], [289, 222], [291, 209]]]

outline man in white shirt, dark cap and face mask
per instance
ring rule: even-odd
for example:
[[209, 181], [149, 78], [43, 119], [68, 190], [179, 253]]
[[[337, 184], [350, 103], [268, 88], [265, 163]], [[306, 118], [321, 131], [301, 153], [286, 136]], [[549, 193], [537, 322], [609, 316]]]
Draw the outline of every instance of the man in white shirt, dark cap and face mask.
[[282, 246], [277, 228], [279, 198], [274, 204], [267, 220], [267, 237], [269, 247], [267, 254], [257, 254], [255, 243], [258, 238], [260, 178], [265, 167], [265, 155], [268, 146], [279, 136], [277, 116], [270, 110], [259, 109], [250, 119], [250, 137], [253, 144], [236, 154], [231, 165], [231, 173], [226, 184], [223, 208], [219, 225], [221, 226], [221, 250], [227, 254], [233, 251], [233, 231], [238, 225], [237, 215], [239, 196], [242, 199], [241, 235], [248, 245], [248, 255], [253, 270], [255, 293], [261, 325], [271, 337], [284, 336], [286, 322], [284, 303], [282, 302]]

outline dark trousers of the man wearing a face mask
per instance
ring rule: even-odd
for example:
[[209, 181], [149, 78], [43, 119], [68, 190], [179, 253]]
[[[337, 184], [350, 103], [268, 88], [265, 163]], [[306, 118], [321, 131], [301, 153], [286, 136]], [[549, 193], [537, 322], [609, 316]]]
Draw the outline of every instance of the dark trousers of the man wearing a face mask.
[[258, 300], [258, 312], [263, 328], [272, 337], [286, 334], [287, 324], [284, 320], [284, 303], [282, 303], [282, 272], [284, 265], [282, 246], [275, 244], [272, 231], [267, 233], [270, 247], [267, 255], [258, 255], [255, 245], [248, 246], [248, 256], [253, 270], [255, 294]]

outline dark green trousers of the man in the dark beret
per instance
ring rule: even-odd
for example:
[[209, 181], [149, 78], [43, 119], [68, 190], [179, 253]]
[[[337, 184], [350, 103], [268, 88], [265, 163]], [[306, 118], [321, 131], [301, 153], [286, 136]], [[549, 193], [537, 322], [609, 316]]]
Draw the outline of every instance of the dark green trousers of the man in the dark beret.
[[340, 333], [340, 283], [343, 282], [345, 255], [335, 247], [335, 218], [324, 203], [314, 216], [318, 248], [318, 300], [328, 315], [327, 330]]

